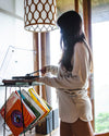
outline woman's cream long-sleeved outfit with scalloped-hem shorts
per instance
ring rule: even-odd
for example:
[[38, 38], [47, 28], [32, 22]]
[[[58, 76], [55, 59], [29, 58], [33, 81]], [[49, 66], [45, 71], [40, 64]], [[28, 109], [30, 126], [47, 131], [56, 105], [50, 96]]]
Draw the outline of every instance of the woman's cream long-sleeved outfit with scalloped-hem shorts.
[[83, 121], [93, 120], [92, 104], [86, 91], [90, 71], [88, 47], [84, 42], [77, 42], [72, 57], [72, 72], [62, 66], [49, 65], [47, 72], [57, 76], [45, 75], [39, 78], [39, 82], [57, 88], [59, 113], [63, 122], [73, 123], [78, 118]]

